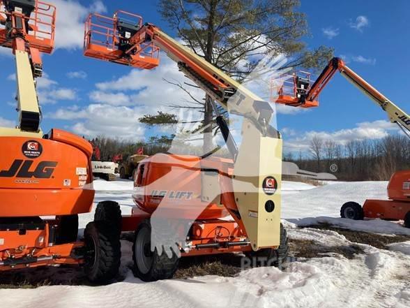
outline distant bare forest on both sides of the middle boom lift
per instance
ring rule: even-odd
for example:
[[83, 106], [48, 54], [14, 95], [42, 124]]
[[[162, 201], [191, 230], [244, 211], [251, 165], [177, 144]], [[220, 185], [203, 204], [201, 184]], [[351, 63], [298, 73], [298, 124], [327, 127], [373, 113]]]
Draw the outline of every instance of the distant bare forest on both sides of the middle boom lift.
[[[126, 158], [143, 147], [144, 154], [153, 155], [167, 152], [174, 136], [155, 136], [147, 142], [130, 142], [114, 138], [99, 137], [93, 142], [100, 147], [101, 159], [111, 161], [116, 154]], [[196, 147], [190, 153], [197, 152]], [[284, 161], [296, 163], [299, 168], [319, 173], [332, 173], [330, 166], [335, 164], [333, 173], [344, 181], [388, 180], [397, 170], [410, 169], [410, 141], [402, 135], [388, 135], [379, 140], [350, 141], [339, 145], [333, 140], [312, 138], [308, 152], [298, 154], [285, 152]]]

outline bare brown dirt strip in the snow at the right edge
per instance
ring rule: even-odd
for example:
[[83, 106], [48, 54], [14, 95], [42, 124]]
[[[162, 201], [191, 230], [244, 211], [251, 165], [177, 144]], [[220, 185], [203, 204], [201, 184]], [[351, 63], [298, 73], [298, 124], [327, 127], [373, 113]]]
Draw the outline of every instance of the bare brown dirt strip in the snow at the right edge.
[[409, 235], [379, 235], [375, 233], [367, 233], [362, 231], [354, 231], [343, 228], [337, 228], [327, 223], [320, 223], [318, 225], [305, 226], [304, 228], [315, 228], [319, 230], [332, 230], [340, 235], [344, 235], [350, 242], [367, 244], [379, 249], [388, 249], [388, 244], [406, 242], [410, 240]]

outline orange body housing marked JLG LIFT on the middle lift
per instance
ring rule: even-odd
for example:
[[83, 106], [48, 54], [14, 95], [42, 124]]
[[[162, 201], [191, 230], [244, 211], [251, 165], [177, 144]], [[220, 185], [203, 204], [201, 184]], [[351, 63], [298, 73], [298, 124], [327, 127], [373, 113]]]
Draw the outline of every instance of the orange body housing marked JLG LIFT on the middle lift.
[[[137, 207], [149, 214], [160, 206], [160, 212], [167, 217], [188, 218], [197, 209], [203, 209], [197, 219], [225, 217], [229, 213], [223, 199], [228, 198], [229, 189], [220, 189], [213, 200], [204, 200], [201, 196], [202, 173], [204, 170], [214, 173], [218, 186], [223, 187], [224, 183], [231, 182], [231, 170], [227, 169], [230, 165], [229, 159], [207, 160], [197, 156], [156, 154], [139, 163], [132, 197]], [[237, 209], [236, 204], [231, 208]]]

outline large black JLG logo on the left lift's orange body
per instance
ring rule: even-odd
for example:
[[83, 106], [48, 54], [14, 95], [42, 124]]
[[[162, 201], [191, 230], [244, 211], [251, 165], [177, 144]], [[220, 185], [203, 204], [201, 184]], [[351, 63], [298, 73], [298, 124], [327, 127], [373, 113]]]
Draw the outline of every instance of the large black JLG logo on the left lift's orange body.
[[40, 161], [37, 167], [33, 171], [30, 171], [33, 162], [34, 161], [16, 159], [8, 170], [0, 171], [0, 177], [35, 177], [36, 179], [50, 179], [57, 166], [56, 161]]

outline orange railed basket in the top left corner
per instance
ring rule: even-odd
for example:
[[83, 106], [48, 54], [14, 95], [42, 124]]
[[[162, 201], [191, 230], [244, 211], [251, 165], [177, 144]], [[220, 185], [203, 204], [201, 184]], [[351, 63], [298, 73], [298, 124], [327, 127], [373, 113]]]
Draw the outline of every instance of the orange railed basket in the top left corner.
[[[22, 36], [31, 48], [50, 54], [54, 49], [56, 7], [42, 1], [31, 2], [0, 1], [0, 45], [13, 48], [12, 38]], [[13, 6], [21, 6], [22, 11]], [[6, 24], [10, 24], [8, 29]]]

